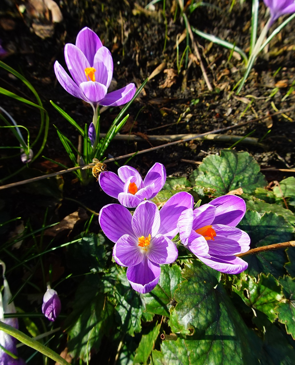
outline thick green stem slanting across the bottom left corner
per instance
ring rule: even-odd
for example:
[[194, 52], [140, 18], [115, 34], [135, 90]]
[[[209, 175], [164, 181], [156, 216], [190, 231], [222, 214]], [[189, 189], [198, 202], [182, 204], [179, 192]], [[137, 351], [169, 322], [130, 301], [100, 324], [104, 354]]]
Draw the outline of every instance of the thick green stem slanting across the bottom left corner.
[[34, 341], [31, 337], [25, 335], [21, 331], [17, 330], [16, 328], [9, 326], [8, 324], [5, 324], [0, 321], [0, 330], [4, 331], [5, 333], [8, 333], [12, 337], [15, 337], [20, 342], [24, 343], [27, 346], [32, 347], [32, 349], [39, 351], [43, 355], [51, 358], [52, 360], [56, 361], [60, 365], [70, 365], [69, 362], [67, 362], [65, 359], [63, 359], [61, 356], [59, 356], [56, 352], [51, 350], [49, 347], [42, 345], [38, 341]]

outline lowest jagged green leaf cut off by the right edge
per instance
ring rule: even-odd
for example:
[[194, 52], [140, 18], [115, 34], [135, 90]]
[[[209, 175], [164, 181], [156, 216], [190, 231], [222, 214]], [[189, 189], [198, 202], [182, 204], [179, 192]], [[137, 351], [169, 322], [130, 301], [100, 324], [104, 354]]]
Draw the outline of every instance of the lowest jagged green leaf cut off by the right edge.
[[279, 322], [286, 326], [287, 333], [295, 339], [295, 278], [284, 276], [279, 282], [286, 298], [278, 306]]

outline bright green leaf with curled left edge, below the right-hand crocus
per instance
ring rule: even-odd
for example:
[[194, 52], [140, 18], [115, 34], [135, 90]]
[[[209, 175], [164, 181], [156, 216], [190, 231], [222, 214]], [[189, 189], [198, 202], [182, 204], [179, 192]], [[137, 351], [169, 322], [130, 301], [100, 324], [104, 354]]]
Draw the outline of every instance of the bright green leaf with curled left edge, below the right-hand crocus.
[[251, 277], [245, 272], [234, 281], [233, 291], [252, 308], [267, 315], [271, 322], [277, 318], [275, 309], [283, 297], [279, 282], [271, 274], [261, 274], [258, 278]]

